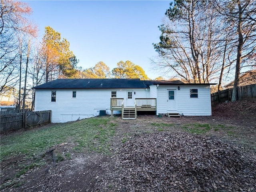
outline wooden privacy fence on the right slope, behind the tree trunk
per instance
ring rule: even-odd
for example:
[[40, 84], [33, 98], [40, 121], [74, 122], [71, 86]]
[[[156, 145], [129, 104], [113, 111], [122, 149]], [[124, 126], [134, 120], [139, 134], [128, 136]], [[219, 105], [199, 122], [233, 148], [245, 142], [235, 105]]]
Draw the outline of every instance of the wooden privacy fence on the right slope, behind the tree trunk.
[[[229, 101], [232, 98], [233, 88], [225, 89], [211, 94], [212, 105]], [[238, 87], [238, 100], [256, 98], [256, 84]]]

